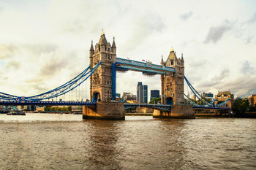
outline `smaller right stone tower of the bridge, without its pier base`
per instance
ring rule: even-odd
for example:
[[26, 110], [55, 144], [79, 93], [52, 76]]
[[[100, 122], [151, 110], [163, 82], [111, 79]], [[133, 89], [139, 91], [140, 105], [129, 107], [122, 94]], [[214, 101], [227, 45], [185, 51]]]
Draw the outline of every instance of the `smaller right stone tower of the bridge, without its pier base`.
[[176, 52], [170, 50], [167, 60], [161, 61], [162, 66], [175, 68], [176, 72], [161, 75], [161, 101], [162, 104], [181, 104], [184, 102], [184, 58], [177, 58]]

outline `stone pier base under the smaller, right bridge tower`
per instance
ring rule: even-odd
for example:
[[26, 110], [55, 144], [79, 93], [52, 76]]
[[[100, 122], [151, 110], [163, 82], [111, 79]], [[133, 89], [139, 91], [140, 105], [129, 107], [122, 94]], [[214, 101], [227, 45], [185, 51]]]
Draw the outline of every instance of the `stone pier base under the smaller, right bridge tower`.
[[162, 112], [154, 109], [154, 118], [178, 118], [178, 119], [195, 119], [195, 112], [191, 105], [173, 105], [170, 112]]

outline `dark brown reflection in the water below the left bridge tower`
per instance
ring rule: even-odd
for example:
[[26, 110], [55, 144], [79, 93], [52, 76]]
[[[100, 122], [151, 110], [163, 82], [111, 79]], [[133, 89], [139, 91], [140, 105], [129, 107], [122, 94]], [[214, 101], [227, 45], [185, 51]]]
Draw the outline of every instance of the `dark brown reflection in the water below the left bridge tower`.
[[[121, 148], [116, 145], [120, 138], [119, 124], [124, 121], [101, 121], [101, 120], [86, 120], [91, 121], [89, 134], [89, 164], [92, 169], [121, 169], [118, 155], [121, 154]], [[85, 139], [86, 141], [86, 139]]]

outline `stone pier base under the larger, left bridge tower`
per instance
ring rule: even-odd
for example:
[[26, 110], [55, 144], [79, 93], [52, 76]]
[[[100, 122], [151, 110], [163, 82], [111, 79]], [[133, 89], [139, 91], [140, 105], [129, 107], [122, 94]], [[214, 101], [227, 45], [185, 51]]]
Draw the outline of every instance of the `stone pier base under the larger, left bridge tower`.
[[125, 120], [124, 104], [117, 102], [97, 102], [96, 107], [83, 106], [83, 119]]

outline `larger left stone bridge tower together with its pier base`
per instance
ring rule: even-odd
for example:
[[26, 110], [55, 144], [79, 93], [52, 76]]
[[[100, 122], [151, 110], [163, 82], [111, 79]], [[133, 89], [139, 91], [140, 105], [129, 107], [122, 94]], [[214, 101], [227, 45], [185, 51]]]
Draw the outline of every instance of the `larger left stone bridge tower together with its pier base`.
[[112, 102], [116, 98], [116, 43], [107, 41], [102, 30], [99, 42], [91, 42], [90, 69], [101, 64], [90, 77], [90, 99], [96, 106], [83, 106], [83, 119], [124, 120], [124, 103]]

